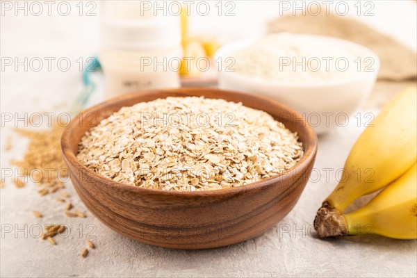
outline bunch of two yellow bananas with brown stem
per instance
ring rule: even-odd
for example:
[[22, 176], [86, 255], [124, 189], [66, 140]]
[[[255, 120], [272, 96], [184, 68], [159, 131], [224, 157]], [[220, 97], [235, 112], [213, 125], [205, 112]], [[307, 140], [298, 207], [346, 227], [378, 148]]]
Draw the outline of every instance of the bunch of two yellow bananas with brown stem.
[[[320, 237], [417, 238], [416, 129], [417, 88], [409, 88], [382, 109], [352, 148], [344, 177], [317, 211]], [[355, 199], [382, 188], [368, 204], [344, 214]]]

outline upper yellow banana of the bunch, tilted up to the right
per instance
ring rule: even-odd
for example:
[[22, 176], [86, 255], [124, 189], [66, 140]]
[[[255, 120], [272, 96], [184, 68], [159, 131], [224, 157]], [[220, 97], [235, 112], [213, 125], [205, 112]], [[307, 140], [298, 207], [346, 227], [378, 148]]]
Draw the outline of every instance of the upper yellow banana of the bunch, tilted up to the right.
[[344, 177], [325, 202], [340, 213], [355, 199], [400, 177], [417, 158], [417, 88], [395, 97], [370, 122], [350, 152]]

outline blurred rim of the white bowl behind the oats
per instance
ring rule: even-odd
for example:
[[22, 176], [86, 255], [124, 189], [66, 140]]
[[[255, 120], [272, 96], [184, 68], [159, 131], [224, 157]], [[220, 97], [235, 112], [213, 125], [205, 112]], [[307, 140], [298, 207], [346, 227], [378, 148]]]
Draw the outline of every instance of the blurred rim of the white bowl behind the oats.
[[[288, 32], [281, 32], [281, 33], [288, 33]], [[247, 47], [248, 45], [256, 42], [257, 40], [260, 40], [261, 38], [265, 38], [268, 35], [277, 35], [281, 33], [270, 33], [267, 35], [258, 35], [258, 36], [252, 36], [250, 38], [243, 38], [240, 40], [234, 40], [233, 42], [229, 42], [227, 44], [222, 45], [218, 51], [215, 52], [214, 60], [217, 61], [219, 58], [222, 57], [231, 57], [231, 53], [234, 51], [238, 51], [240, 49], [243, 49], [244, 47]], [[293, 33], [291, 33], [293, 34]], [[313, 34], [306, 34], [306, 33], [294, 33], [294, 35], [302, 35], [305, 37], [310, 38], [321, 38], [323, 40], [333, 41], [337, 44], [343, 44], [347, 47], [359, 49], [361, 53], [368, 54], [369, 57], [373, 58], [375, 60], [375, 64], [373, 67], [375, 67], [375, 70], [373, 72], [362, 72], [363, 74], [355, 74], [354, 76], [350, 76], [346, 79], [340, 79], [336, 81], [320, 81], [316, 83], [291, 83], [291, 82], [280, 82], [280, 81], [272, 81], [272, 80], [263, 80], [259, 78], [255, 78], [253, 76], [246, 76], [243, 74], [239, 74], [236, 71], [224, 71], [222, 68], [219, 68], [219, 79], [221, 79], [221, 76], [230, 76], [229, 78], [237, 79], [238, 81], [246, 82], [246, 83], [254, 83], [255, 85], [263, 85], [263, 86], [275, 86], [280, 88], [322, 88], [322, 87], [332, 87], [332, 86], [338, 86], [338, 85], [346, 85], [350, 83], [357, 83], [359, 81], [363, 81], [365, 79], [375, 78], [378, 75], [379, 69], [381, 67], [381, 60], [379, 59], [379, 56], [375, 54], [374, 51], [369, 49], [368, 47], [364, 47], [361, 44], [357, 44], [356, 42], [351, 42], [349, 40], [343, 40], [341, 38], [331, 37], [327, 35], [313, 35]], [[229, 56], [227, 56], [229, 55]], [[367, 58], [367, 57], [366, 57]], [[359, 72], [360, 73], [360, 72]]]

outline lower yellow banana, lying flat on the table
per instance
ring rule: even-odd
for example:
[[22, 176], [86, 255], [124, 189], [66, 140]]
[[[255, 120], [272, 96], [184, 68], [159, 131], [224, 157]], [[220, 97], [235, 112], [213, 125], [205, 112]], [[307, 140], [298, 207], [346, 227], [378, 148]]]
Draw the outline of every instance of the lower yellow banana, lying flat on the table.
[[322, 236], [379, 234], [389, 238], [417, 238], [417, 165], [366, 206], [340, 217], [335, 222], [323, 223], [328, 226], [322, 227]]

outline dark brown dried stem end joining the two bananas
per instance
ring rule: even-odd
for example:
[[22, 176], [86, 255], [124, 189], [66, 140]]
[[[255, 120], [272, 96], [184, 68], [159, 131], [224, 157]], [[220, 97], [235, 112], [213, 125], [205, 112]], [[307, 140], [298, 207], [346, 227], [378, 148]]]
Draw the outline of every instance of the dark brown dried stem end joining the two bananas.
[[314, 229], [320, 238], [328, 236], [347, 236], [349, 229], [345, 217], [329, 202], [324, 202], [314, 218]]

